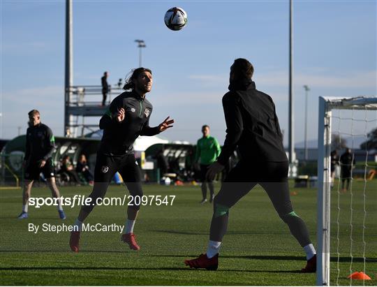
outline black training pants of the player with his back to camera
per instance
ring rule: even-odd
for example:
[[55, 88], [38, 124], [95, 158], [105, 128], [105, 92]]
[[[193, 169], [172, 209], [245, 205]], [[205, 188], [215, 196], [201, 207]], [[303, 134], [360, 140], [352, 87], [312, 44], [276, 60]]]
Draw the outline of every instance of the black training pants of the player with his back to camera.
[[288, 224], [290, 232], [301, 244], [310, 244], [309, 232], [302, 219], [293, 212], [288, 187], [288, 162], [239, 161], [230, 170], [219, 193], [214, 198], [209, 240], [221, 242], [228, 226], [228, 209], [245, 196], [256, 184], [265, 189], [276, 212]]

